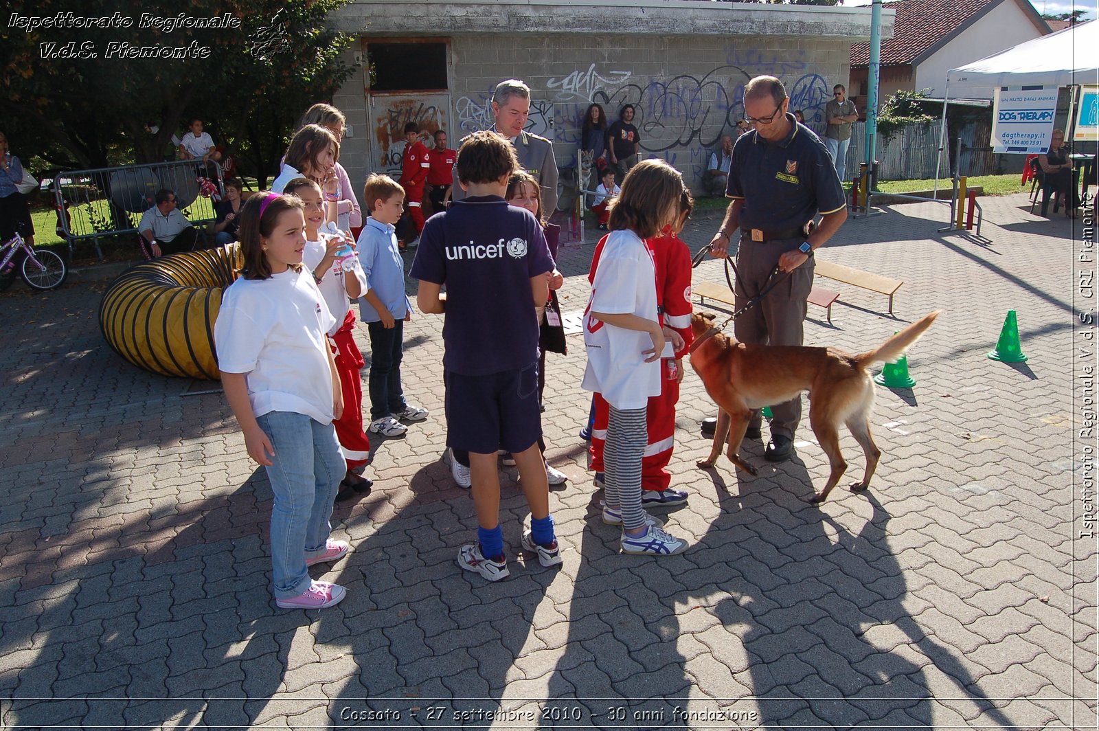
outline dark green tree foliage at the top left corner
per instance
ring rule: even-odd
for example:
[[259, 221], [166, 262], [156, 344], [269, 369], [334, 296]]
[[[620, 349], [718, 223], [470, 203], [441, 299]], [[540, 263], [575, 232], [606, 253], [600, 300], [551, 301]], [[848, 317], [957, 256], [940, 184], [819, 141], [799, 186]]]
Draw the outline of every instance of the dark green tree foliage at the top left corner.
[[[171, 135], [189, 117], [199, 117], [215, 142], [227, 144], [263, 184], [276, 171], [300, 114], [330, 99], [353, 71], [340, 60], [353, 36], [324, 26], [328, 13], [345, 2], [40, 0], [22, 14], [116, 22], [31, 30], [9, 19], [0, 27], [4, 132], [23, 159], [36, 155], [51, 167], [103, 167], [164, 159], [171, 154]], [[179, 8], [186, 10], [181, 16]], [[229, 15], [240, 22], [142, 27], [145, 13], [167, 21]], [[119, 19], [131, 23], [120, 26]], [[127, 57], [127, 51], [143, 47], [186, 57]]]

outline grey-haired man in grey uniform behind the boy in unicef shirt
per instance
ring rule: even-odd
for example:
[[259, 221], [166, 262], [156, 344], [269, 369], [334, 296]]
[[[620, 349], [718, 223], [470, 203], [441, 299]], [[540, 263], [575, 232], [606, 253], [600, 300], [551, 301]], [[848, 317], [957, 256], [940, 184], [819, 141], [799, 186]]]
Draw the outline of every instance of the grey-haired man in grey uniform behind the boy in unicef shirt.
[[[557, 209], [557, 160], [553, 156], [553, 143], [530, 132], [524, 132], [526, 118], [531, 112], [531, 88], [519, 79], [500, 81], [492, 92], [492, 114], [496, 117], [493, 132], [511, 141], [523, 169], [539, 180], [542, 188], [542, 214], [548, 219]], [[457, 170], [454, 173], [457, 180]], [[462, 186], [454, 186], [451, 198], [466, 197]]]

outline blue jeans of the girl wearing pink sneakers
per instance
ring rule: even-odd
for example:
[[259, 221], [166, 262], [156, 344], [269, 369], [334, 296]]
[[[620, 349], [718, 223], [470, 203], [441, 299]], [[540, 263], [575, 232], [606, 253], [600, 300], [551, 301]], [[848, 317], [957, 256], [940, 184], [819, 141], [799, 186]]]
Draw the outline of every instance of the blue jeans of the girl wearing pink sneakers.
[[[347, 463], [335, 428], [303, 413], [270, 411], [256, 421], [275, 447], [265, 467], [275, 494], [271, 508], [271, 564], [275, 597], [289, 599], [309, 588], [306, 557], [324, 553], [329, 517]], [[269, 456], [269, 455], [268, 455]]]

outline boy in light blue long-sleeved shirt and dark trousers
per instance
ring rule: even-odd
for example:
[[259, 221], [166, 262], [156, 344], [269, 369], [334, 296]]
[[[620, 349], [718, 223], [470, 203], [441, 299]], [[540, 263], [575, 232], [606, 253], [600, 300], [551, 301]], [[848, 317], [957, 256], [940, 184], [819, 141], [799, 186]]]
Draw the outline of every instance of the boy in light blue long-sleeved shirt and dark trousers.
[[370, 433], [400, 436], [401, 421], [423, 421], [426, 409], [404, 400], [401, 358], [404, 322], [412, 303], [404, 293], [404, 259], [393, 226], [401, 218], [404, 189], [387, 175], [371, 175], [364, 189], [370, 217], [358, 235], [358, 261], [367, 289], [358, 298], [359, 319], [370, 335]]

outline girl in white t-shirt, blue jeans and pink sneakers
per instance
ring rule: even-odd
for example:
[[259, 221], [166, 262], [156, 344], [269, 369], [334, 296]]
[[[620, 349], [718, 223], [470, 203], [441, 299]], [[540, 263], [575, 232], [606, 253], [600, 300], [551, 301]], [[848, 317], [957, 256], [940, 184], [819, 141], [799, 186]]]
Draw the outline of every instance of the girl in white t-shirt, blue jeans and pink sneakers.
[[222, 297], [214, 344], [248, 456], [266, 467], [275, 494], [275, 602], [321, 609], [346, 594], [309, 576], [309, 566], [337, 561], [348, 550], [329, 538], [345, 472], [332, 428], [343, 397], [326, 336], [335, 320], [301, 264], [303, 208], [297, 198], [270, 192], [241, 208], [244, 267]]

